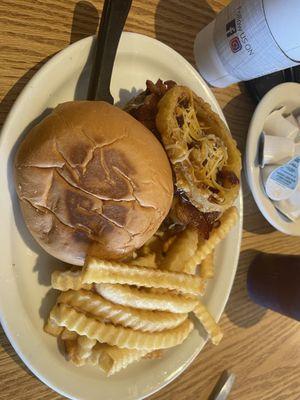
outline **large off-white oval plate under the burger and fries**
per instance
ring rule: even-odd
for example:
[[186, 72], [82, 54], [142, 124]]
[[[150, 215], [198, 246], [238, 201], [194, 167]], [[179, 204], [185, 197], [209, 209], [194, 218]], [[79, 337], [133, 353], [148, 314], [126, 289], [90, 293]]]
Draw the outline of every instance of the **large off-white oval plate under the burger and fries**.
[[[205, 335], [194, 330], [162, 360], [142, 361], [111, 378], [92, 367], [68, 363], [54, 338], [43, 332], [43, 319], [54, 303], [49, 292], [51, 271], [59, 262], [34, 242], [24, 226], [13, 184], [12, 160], [21, 137], [45, 110], [86, 94], [92, 38], [81, 40], [54, 56], [28, 83], [14, 104], [1, 135], [1, 323], [24, 363], [45, 384], [71, 399], [133, 400], [159, 390], [178, 376], [205, 344]], [[190, 64], [174, 50], [146, 36], [124, 32], [112, 76], [112, 94], [124, 102], [145, 80], [173, 79], [191, 87], [224, 118], [207, 85]], [[216, 277], [205, 302], [219, 319], [227, 302], [238, 262], [242, 197], [237, 202], [240, 222], [216, 254]], [[48, 293], [49, 292], [49, 293]], [[203, 335], [203, 336], [201, 336]]]

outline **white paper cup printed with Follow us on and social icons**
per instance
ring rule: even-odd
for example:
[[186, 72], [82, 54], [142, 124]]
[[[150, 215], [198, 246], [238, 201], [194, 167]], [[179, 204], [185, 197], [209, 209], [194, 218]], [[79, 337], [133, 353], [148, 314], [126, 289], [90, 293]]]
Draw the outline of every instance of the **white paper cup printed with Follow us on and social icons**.
[[195, 38], [199, 73], [226, 87], [298, 65], [299, 0], [232, 0]]

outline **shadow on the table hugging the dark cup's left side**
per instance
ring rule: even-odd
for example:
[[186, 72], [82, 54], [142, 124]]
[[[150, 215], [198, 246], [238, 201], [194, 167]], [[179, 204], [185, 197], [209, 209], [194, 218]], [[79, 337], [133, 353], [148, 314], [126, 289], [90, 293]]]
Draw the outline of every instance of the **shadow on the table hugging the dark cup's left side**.
[[231, 295], [225, 309], [230, 321], [241, 328], [256, 325], [267, 312], [265, 308], [255, 304], [247, 292], [248, 268], [258, 254], [259, 252], [256, 250], [241, 252]]

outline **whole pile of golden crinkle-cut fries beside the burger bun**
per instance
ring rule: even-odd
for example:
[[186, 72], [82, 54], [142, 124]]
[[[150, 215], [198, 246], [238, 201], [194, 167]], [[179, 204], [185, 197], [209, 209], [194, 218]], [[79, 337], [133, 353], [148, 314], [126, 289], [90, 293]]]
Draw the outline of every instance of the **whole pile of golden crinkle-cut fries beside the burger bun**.
[[76, 366], [91, 364], [107, 376], [142, 358], [157, 359], [193, 330], [192, 312], [213, 344], [222, 332], [199, 296], [214, 276], [213, 252], [238, 219], [228, 209], [208, 240], [187, 227], [163, 246], [126, 262], [88, 257], [82, 270], [54, 271], [60, 291], [45, 331], [59, 337]]

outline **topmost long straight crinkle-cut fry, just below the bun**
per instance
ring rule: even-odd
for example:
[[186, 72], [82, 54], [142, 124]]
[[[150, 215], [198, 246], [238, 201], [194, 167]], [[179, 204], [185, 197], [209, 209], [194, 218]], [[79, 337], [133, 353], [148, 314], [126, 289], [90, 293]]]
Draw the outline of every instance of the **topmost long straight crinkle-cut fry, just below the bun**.
[[177, 290], [198, 295], [204, 292], [202, 279], [179, 272], [128, 266], [124, 263], [88, 257], [83, 269], [84, 283], [119, 283]]

